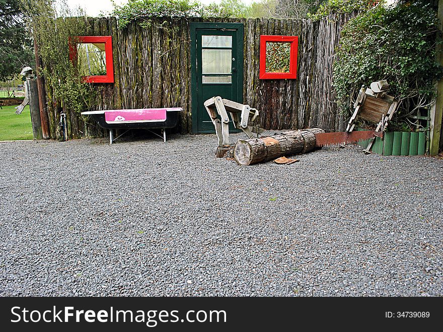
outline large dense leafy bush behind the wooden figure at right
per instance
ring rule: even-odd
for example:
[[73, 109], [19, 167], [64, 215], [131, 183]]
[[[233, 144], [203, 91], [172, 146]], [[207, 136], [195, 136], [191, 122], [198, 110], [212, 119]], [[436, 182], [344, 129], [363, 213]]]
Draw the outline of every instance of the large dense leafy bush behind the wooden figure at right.
[[388, 80], [389, 94], [399, 99], [397, 118], [430, 103], [436, 61], [438, 20], [428, 3], [378, 6], [350, 20], [342, 30], [334, 60], [334, 87], [343, 113], [362, 85]]

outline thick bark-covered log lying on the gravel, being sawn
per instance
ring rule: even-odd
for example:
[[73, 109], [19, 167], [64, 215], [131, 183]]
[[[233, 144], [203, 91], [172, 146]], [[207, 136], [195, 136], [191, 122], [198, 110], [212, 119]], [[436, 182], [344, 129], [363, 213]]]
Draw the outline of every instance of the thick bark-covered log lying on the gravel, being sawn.
[[234, 146], [234, 159], [247, 166], [294, 154], [313, 151], [315, 134], [325, 132], [321, 128], [289, 130], [283, 134], [259, 139], [239, 140]]

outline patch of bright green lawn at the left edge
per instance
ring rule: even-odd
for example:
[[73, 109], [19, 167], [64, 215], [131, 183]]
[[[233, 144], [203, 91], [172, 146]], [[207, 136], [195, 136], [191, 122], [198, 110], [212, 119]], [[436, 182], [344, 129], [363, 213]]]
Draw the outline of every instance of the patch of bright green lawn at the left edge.
[[20, 115], [16, 114], [16, 106], [3, 106], [0, 109], [0, 141], [33, 139], [29, 106]]

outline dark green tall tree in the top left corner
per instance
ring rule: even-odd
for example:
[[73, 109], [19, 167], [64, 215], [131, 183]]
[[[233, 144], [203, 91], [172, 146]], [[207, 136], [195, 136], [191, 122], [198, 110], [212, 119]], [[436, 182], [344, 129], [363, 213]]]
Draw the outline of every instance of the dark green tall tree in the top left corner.
[[[21, 72], [32, 60], [32, 39], [19, 0], [0, 0], [0, 81]], [[32, 66], [31, 66], [32, 67]]]

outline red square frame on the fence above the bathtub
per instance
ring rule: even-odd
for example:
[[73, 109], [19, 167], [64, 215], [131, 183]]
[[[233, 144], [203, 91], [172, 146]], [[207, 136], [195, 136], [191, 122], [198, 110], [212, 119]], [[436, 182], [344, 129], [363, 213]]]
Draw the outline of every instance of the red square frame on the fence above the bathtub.
[[77, 44], [104, 43], [106, 56], [106, 75], [84, 76], [88, 83], [114, 83], [114, 62], [112, 59], [112, 36], [77, 36], [69, 37], [69, 59], [72, 63], [77, 59]]

